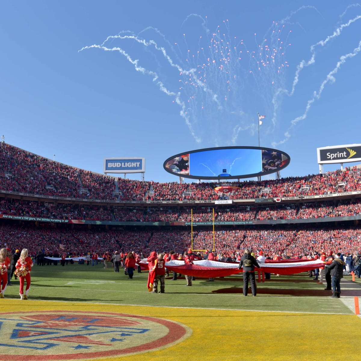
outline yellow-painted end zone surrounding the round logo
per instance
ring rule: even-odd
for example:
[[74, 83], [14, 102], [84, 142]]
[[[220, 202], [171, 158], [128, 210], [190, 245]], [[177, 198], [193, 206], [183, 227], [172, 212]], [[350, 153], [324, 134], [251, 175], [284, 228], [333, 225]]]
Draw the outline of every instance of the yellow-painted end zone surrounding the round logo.
[[[118, 359], [136, 357], [147, 361], [227, 361], [239, 358], [248, 361], [344, 360], [343, 351], [354, 347], [352, 330], [360, 328], [360, 319], [356, 315], [262, 313], [6, 299], [0, 303], [1, 313], [18, 312], [19, 317], [26, 312], [56, 310], [148, 316], [186, 326], [187, 334], [179, 343], [158, 351], [117, 356]], [[64, 357], [61, 359], [66, 360]], [[97, 361], [105, 360], [114, 361], [115, 358], [97, 358]]]

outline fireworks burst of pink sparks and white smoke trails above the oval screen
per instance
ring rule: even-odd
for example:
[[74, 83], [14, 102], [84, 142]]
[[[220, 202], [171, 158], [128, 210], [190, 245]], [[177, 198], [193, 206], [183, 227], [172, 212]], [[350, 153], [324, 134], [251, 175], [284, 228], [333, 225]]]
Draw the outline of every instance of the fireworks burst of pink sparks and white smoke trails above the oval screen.
[[[325, 85], [335, 81], [334, 74], [340, 66], [348, 58], [356, 56], [360, 48], [355, 44], [348, 53], [341, 54], [331, 65], [327, 64], [333, 71], [325, 71], [327, 67], [323, 65], [315, 72], [317, 78], [312, 79], [315, 83], [303, 85], [302, 89], [309, 100], [297, 102], [301, 107], [297, 110], [292, 103], [288, 104], [288, 114], [284, 116], [281, 113], [282, 103], [294, 95], [301, 71], [316, 63], [315, 49], [323, 48], [340, 36], [345, 28], [361, 19], [361, 16], [356, 16], [340, 25], [332, 30], [332, 35], [310, 45], [311, 54], [304, 54], [297, 45], [291, 46], [291, 37], [295, 34], [292, 27], [303, 29], [298, 22], [292, 23], [291, 18], [301, 11], [318, 13], [313, 6], [302, 6], [288, 17], [273, 21], [264, 36], [251, 31], [248, 34], [231, 34], [228, 20], [223, 20], [212, 31], [208, 28], [207, 18], [191, 14], [181, 25], [181, 40], [172, 39], [170, 42], [158, 29], [148, 27], [138, 34], [124, 31], [108, 36], [102, 44], [86, 46], [81, 51], [97, 48], [119, 52], [136, 71], [149, 76], [158, 89], [180, 107], [180, 116], [190, 134], [204, 147], [239, 143], [256, 145], [256, 137], [253, 136], [257, 134], [257, 110], [270, 114], [268, 129], [264, 127], [269, 144], [262, 144], [275, 147], [291, 136], [292, 127], [306, 118]], [[198, 32], [187, 28], [191, 17], [199, 21]], [[299, 51], [299, 59], [306, 57], [309, 60], [295, 62], [293, 49], [295, 53]], [[330, 62], [329, 58], [327, 61]], [[319, 90], [315, 91], [317, 88]], [[161, 97], [159, 102], [161, 104]], [[280, 114], [287, 118], [288, 124], [279, 124]], [[178, 129], [179, 118], [175, 118], [169, 126]], [[277, 134], [277, 131], [281, 133]]]

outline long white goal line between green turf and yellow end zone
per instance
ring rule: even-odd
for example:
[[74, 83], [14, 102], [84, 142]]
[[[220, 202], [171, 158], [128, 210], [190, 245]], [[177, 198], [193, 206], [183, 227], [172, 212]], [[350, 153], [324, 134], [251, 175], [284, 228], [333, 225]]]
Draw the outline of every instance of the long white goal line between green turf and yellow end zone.
[[[94, 290], [91, 290], [94, 291]], [[187, 293], [190, 295], [191, 293]], [[80, 303], [83, 305], [111, 305], [111, 306], [130, 306], [130, 307], [152, 307], [152, 308], [176, 308], [176, 309], [193, 309], [193, 310], [222, 310], [222, 311], [246, 311], [246, 312], [263, 312], [263, 313], [299, 313], [299, 314], [328, 314], [328, 315], [346, 315], [354, 316], [352, 313], [332, 313], [332, 312], [300, 312], [300, 311], [266, 311], [264, 309], [260, 310], [251, 310], [249, 308], [214, 308], [214, 307], [183, 307], [183, 306], [150, 306], [150, 305], [132, 305], [132, 304], [123, 304], [123, 303], [102, 303], [102, 302], [79, 302], [79, 301], [51, 301], [51, 300], [41, 300], [31, 298], [33, 301], [42, 301], [42, 302], [57, 302], [57, 303]], [[153, 316], [156, 317], [156, 316]]]

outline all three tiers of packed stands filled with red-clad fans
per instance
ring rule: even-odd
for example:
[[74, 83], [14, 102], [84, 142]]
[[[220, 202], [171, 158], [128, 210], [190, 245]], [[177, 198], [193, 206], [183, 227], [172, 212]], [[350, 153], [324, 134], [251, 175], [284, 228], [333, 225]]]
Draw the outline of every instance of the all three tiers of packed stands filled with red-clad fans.
[[[214, 200], [222, 198], [213, 190], [218, 183], [115, 178], [64, 165], [6, 143], [0, 143], [0, 164], [0, 243], [12, 250], [29, 248], [33, 255], [41, 250], [49, 255], [55, 253], [60, 244], [77, 255], [133, 250], [146, 256], [153, 250], [183, 252], [190, 246], [225, 254], [251, 247], [283, 257], [308, 255], [321, 249], [343, 253], [361, 249], [360, 196], [347, 195], [361, 190], [361, 170], [356, 167], [273, 181], [234, 182], [239, 188], [227, 197], [247, 200], [248, 204], [215, 205]], [[303, 200], [316, 195], [326, 195], [327, 199]], [[270, 205], [255, 202], [274, 197], [293, 199]], [[157, 201], [175, 204], [161, 207]], [[178, 201], [195, 203], [190, 206]], [[6, 215], [42, 217], [47, 221], [10, 220]], [[339, 223], [334, 222], [335, 218]], [[55, 220], [74, 220], [84, 225]], [[218, 224], [213, 232], [213, 221], [227, 225]], [[198, 225], [191, 232], [190, 222], [208, 226]]]

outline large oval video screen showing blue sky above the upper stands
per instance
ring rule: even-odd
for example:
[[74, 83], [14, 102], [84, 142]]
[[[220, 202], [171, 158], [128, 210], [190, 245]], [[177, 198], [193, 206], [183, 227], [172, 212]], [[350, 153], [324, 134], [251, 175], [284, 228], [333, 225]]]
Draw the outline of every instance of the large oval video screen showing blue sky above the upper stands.
[[277, 149], [219, 147], [179, 153], [169, 157], [163, 168], [192, 179], [236, 179], [275, 173], [290, 164], [290, 156]]

